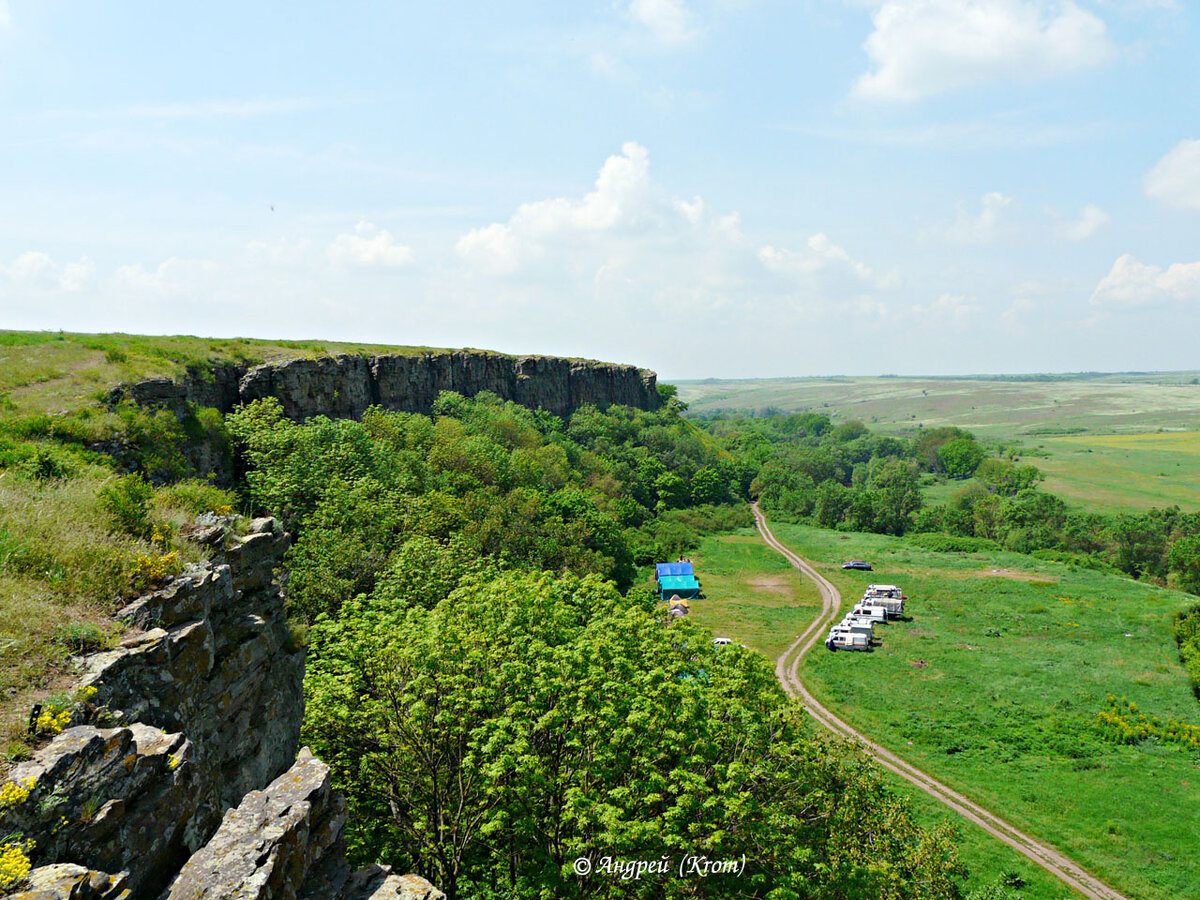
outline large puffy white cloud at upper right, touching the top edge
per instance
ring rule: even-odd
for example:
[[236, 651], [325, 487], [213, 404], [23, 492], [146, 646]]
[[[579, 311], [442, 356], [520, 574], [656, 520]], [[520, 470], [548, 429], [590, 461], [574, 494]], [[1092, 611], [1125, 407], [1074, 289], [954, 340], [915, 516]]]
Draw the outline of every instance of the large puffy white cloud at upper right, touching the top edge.
[[996, 79], [1034, 79], [1114, 54], [1104, 22], [1072, 0], [887, 0], [854, 92], [913, 101]]

